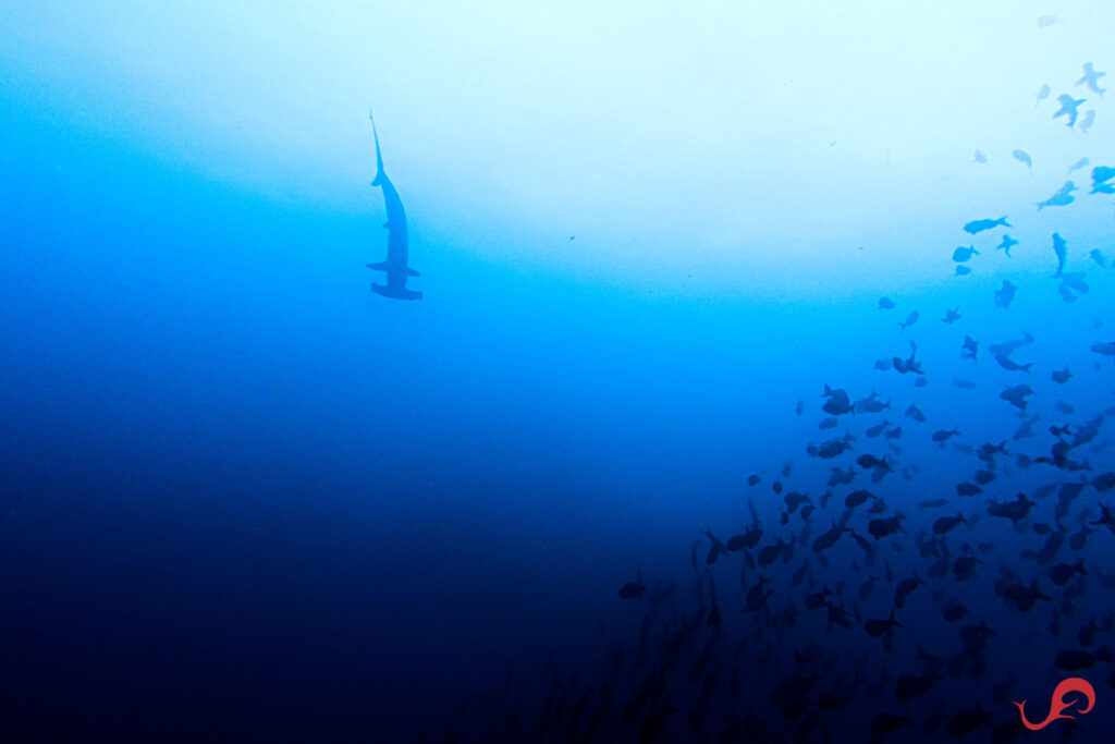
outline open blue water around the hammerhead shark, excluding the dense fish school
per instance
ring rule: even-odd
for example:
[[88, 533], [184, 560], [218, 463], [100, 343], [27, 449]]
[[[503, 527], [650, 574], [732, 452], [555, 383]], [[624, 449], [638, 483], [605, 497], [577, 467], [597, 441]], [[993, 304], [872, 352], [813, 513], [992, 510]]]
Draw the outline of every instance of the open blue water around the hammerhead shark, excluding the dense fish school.
[[[809, 466], [798, 399], [898, 389], [870, 363], [912, 308], [930, 425], [1012, 431], [948, 386], [973, 375], [937, 318], [1095, 360], [1111, 281], [1061, 302], [1048, 235], [1115, 252], [1111, 200], [1032, 205], [1115, 160], [1109, 109], [1085, 135], [1034, 93], [1115, 68], [1113, 28], [1098, 1], [3, 3], [0, 709], [27, 741], [390, 741], [508, 663], [595, 658], [636, 568], [682, 574], [748, 473]], [[367, 287], [369, 104], [418, 303]], [[954, 279], [960, 225], [1001, 214], [1015, 258]]]

